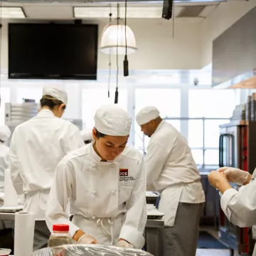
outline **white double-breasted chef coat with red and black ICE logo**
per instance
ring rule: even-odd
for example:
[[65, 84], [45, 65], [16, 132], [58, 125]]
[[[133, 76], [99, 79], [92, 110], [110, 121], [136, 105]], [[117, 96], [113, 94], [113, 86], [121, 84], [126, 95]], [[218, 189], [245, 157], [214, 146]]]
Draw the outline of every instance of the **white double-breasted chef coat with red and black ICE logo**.
[[[70, 201], [73, 223], [65, 214]], [[144, 245], [146, 176], [142, 154], [124, 149], [114, 161], [101, 161], [92, 143], [71, 152], [58, 164], [46, 210], [46, 223], [70, 225], [70, 234], [83, 230], [100, 244], [119, 238], [136, 248]]]

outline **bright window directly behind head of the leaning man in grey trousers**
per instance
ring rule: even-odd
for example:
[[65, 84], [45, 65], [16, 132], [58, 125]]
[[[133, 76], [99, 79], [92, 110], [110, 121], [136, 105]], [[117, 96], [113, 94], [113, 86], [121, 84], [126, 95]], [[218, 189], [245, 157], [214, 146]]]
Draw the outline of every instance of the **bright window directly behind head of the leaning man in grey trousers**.
[[[136, 89], [135, 90], [135, 114], [143, 107], [157, 107], [161, 117], [181, 117], [181, 92], [178, 89]], [[180, 120], [167, 120], [178, 131], [181, 129]], [[144, 138], [144, 144], [143, 144]], [[144, 137], [139, 125], [135, 124], [135, 148], [146, 151], [149, 144], [149, 137]]]

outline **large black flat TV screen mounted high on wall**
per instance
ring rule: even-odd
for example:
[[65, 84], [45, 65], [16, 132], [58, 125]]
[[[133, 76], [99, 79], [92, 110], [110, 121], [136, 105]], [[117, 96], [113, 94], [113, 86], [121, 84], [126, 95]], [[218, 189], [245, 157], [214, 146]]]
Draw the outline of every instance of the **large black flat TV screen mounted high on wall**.
[[9, 23], [9, 78], [97, 79], [98, 26]]

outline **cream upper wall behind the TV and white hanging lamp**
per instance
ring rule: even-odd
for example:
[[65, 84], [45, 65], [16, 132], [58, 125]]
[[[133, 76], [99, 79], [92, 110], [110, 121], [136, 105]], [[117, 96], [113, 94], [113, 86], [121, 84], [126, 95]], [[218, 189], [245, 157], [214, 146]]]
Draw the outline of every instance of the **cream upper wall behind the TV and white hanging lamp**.
[[[3, 20], [1, 67], [8, 68], [8, 25]], [[19, 22], [19, 21], [18, 21]], [[24, 22], [24, 21], [23, 21]], [[99, 23], [99, 48], [105, 21]], [[198, 69], [201, 61], [200, 26], [198, 20], [177, 20], [175, 36], [172, 38], [172, 22], [163, 19], [130, 19], [128, 25], [134, 31], [139, 50], [129, 55], [131, 70], [154, 69]], [[119, 68], [122, 69], [124, 57], [119, 57]], [[26, 61], [26, 60], [24, 60]], [[98, 69], [107, 70], [109, 56], [98, 54]], [[112, 57], [112, 66], [116, 67], [116, 58]]]

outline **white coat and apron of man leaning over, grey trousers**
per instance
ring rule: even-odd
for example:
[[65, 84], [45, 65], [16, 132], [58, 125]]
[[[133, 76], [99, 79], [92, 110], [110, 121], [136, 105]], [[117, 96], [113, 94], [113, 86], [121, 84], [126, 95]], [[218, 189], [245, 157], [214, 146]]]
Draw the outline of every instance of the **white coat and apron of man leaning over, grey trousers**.
[[186, 139], [164, 120], [151, 136], [145, 157], [146, 186], [162, 191], [159, 210], [174, 225], [178, 203], [206, 201], [201, 176]]

